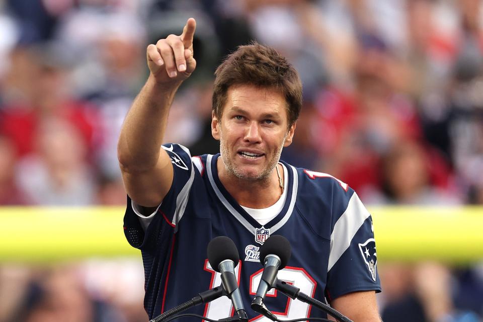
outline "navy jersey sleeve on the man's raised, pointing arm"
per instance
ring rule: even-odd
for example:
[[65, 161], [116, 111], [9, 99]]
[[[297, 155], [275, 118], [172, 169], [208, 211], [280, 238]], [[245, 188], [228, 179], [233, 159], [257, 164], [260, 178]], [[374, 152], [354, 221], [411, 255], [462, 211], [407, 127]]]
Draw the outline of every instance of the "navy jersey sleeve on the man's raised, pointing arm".
[[124, 233], [129, 244], [136, 248], [143, 248], [148, 235], [155, 236], [164, 229], [176, 232], [194, 181], [195, 167], [189, 149], [180, 144], [165, 144], [162, 148], [170, 156], [173, 165], [173, 183], [162, 203], [152, 214], [144, 216], [131, 198], [127, 197]]

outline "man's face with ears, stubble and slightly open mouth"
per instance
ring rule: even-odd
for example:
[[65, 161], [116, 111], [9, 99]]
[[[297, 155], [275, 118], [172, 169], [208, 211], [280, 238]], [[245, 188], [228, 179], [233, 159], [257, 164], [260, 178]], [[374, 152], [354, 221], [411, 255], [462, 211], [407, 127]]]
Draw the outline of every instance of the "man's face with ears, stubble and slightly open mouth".
[[249, 85], [228, 89], [221, 120], [214, 115], [211, 122], [228, 175], [268, 180], [295, 130], [295, 124], [288, 129], [285, 106], [283, 95], [272, 89]]

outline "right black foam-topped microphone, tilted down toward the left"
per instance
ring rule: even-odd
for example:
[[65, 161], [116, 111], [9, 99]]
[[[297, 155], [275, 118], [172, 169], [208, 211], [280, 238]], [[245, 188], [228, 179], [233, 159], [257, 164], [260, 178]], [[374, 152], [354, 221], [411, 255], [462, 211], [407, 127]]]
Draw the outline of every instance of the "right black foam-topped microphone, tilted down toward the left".
[[264, 269], [251, 306], [254, 311], [260, 312], [274, 321], [276, 316], [267, 309], [263, 302], [267, 292], [277, 282], [278, 271], [287, 265], [291, 256], [292, 247], [287, 238], [281, 235], [270, 236], [260, 248], [260, 262]]

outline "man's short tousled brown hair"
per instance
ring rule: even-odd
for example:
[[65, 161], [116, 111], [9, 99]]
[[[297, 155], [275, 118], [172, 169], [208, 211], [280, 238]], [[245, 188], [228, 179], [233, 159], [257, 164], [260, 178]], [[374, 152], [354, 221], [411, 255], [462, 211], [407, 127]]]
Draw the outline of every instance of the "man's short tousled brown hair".
[[297, 120], [302, 107], [302, 82], [297, 70], [275, 49], [256, 42], [239, 46], [216, 68], [211, 108], [219, 120], [226, 93], [236, 85], [279, 91], [287, 103], [288, 126]]

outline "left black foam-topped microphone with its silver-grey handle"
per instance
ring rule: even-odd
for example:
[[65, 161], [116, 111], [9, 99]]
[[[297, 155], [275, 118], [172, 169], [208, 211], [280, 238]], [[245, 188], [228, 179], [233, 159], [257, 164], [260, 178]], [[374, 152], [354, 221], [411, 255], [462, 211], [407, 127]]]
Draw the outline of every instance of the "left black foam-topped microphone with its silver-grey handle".
[[208, 244], [207, 255], [211, 268], [221, 273], [221, 284], [227, 296], [231, 299], [238, 318], [242, 321], [248, 321], [248, 315], [241, 301], [235, 276], [235, 265], [240, 260], [235, 243], [226, 236], [215, 237]]

